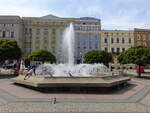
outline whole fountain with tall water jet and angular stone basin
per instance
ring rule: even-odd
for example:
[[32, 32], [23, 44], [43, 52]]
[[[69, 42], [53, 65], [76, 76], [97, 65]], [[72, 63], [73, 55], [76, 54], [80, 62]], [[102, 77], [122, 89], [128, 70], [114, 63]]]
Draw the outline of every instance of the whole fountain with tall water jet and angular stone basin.
[[71, 23], [63, 35], [64, 64], [45, 63], [37, 67], [37, 76], [23, 80], [20, 75], [13, 82], [32, 87], [112, 87], [126, 83], [129, 77], [112, 76], [103, 64], [74, 64], [74, 27]]

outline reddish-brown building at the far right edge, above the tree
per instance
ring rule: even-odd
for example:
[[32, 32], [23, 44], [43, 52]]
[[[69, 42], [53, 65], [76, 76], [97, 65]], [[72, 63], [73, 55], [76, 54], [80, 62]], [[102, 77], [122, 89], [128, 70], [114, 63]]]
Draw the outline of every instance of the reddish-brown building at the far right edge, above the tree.
[[136, 46], [150, 46], [150, 29], [134, 29]]

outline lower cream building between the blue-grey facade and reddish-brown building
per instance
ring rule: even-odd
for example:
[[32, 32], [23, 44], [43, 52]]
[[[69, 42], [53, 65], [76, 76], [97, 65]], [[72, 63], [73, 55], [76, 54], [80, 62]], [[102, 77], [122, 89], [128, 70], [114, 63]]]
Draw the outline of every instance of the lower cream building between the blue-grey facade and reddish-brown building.
[[133, 30], [102, 30], [101, 50], [120, 53], [134, 46]]

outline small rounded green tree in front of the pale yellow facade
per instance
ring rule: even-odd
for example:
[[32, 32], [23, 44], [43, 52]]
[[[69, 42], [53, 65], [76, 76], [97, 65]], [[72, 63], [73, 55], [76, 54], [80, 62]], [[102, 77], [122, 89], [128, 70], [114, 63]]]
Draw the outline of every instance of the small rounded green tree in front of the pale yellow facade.
[[31, 61], [48, 61], [50, 63], [56, 62], [56, 57], [52, 53], [45, 50], [32, 51], [32, 53], [29, 55], [29, 59]]

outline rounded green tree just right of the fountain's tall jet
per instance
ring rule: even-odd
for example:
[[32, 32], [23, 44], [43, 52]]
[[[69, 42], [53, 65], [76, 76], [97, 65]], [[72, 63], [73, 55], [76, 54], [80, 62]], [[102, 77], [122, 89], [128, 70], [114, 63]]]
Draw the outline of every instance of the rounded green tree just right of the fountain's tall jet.
[[105, 51], [93, 50], [85, 53], [83, 56], [84, 63], [94, 64], [94, 63], [104, 63], [108, 66], [109, 62], [112, 62], [113, 57], [111, 53]]

